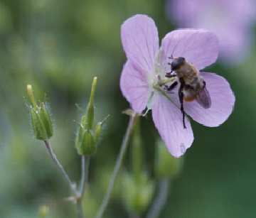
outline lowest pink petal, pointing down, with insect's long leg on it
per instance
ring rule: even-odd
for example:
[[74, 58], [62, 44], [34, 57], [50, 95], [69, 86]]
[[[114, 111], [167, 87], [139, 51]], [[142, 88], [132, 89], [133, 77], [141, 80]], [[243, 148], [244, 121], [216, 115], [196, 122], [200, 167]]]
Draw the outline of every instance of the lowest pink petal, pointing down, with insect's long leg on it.
[[186, 119], [186, 129], [184, 129], [182, 114], [178, 107], [163, 96], [156, 97], [154, 101], [152, 116], [156, 129], [171, 155], [178, 158], [193, 143], [190, 121]]

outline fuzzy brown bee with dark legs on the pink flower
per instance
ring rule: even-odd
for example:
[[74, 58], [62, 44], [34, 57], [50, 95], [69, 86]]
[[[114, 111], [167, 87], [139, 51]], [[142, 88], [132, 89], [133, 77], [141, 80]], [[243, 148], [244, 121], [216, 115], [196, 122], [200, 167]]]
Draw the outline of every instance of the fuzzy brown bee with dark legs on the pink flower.
[[[165, 76], [169, 78], [176, 77], [178, 80], [175, 80], [171, 85], [167, 86], [166, 89], [170, 91], [174, 89], [176, 85], [180, 85], [178, 88], [178, 99], [181, 103], [183, 127], [186, 129], [183, 102], [193, 102], [193, 100], [196, 100], [201, 107], [208, 109], [211, 106], [210, 94], [206, 89], [206, 81], [203, 80], [203, 77], [201, 77], [196, 67], [187, 62], [183, 57], [170, 57], [170, 59], [172, 60], [169, 62], [171, 72], [167, 72]], [[173, 72], [175, 72], [175, 74]]]

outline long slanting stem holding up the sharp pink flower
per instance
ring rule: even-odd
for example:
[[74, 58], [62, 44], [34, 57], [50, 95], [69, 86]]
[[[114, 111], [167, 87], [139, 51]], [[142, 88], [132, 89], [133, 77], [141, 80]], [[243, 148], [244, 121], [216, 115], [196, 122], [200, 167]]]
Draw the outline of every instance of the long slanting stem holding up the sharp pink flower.
[[102, 204], [100, 205], [100, 209], [98, 210], [98, 212], [96, 214], [96, 218], [101, 218], [102, 217], [102, 215], [105, 212], [105, 209], [107, 207], [107, 204], [110, 201], [110, 195], [111, 195], [113, 187], [114, 187], [114, 181], [117, 178], [117, 174], [118, 174], [118, 172], [121, 168], [121, 165], [122, 165], [122, 160], [124, 159], [124, 154], [127, 151], [127, 146], [128, 146], [129, 138], [132, 134], [132, 129], [133, 129], [133, 126], [134, 126], [134, 123], [135, 123], [135, 118], [136, 118], [136, 114], [131, 114], [130, 115], [127, 131], [124, 135], [122, 145], [121, 145], [121, 148], [120, 148], [120, 151], [119, 151], [119, 155], [117, 157], [116, 164], [114, 165], [114, 170], [113, 170], [112, 176], [110, 178], [110, 183], [107, 187], [107, 193], [106, 193], [105, 197], [102, 200]]

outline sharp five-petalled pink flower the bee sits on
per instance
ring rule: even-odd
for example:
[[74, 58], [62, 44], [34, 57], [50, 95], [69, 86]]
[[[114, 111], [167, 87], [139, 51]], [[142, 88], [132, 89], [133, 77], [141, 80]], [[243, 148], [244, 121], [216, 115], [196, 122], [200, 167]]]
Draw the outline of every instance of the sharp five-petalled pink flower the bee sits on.
[[121, 36], [127, 55], [120, 79], [122, 94], [137, 113], [142, 113], [146, 107], [152, 110], [156, 129], [173, 156], [182, 156], [193, 143], [188, 116], [205, 126], [219, 126], [228, 119], [235, 97], [223, 77], [198, 71], [206, 82], [211, 106], [204, 109], [196, 101], [184, 102], [184, 111], [188, 115], [186, 129], [178, 101], [178, 87], [167, 92], [161, 85], [166, 72], [171, 71], [168, 65], [171, 55], [186, 58], [197, 70], [215, 62], [218, 39], [213, 33], [202, 29], [172, 31], [164, 37], [159, 48], [154, 21], [148, 16], [136, 15], [122, 24]]

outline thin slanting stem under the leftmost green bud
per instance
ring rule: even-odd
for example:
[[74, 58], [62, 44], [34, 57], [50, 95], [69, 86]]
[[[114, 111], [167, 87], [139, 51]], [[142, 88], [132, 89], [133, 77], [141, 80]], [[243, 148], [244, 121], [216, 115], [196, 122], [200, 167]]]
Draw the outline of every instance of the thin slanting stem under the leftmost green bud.
[[60, 161], [58, 160], [57, 156], [55, 155], [53, 148], [50, 146], [50, 142], [49, 141], [44, 141], [45, 145], [46, 145], [46, 149], [48, 151], [48, 153], [50, 154], [50, 158], [52, 158], [52, 160], [54, 161], [54, 163], [58, 166], [61, 174], [63, 175], [63, 177], [65, 178], [65, 180], [67, 180], [68, 185], [70, 186], [70, 189], [72, 190], [73, 194], [75, 196], [78, 195], [78, 192], [75, 188], [75, 183], [73, 183], [69, 176], [68, 173], [66, 173], [66, 171], [63, 168], [63, 165], [61, 165]]

